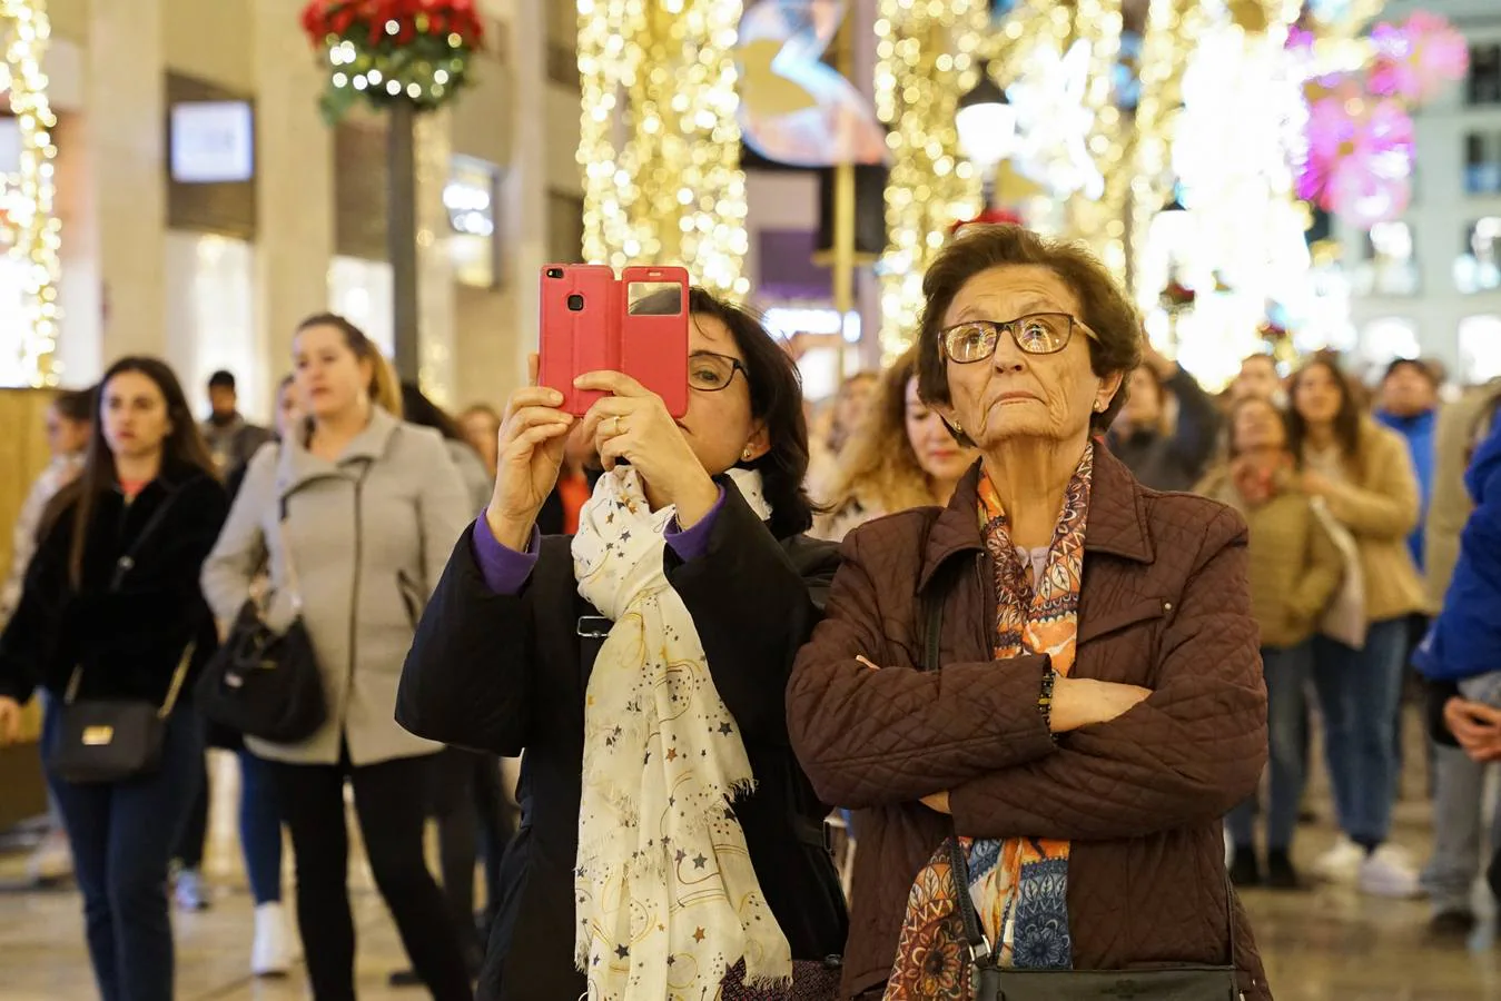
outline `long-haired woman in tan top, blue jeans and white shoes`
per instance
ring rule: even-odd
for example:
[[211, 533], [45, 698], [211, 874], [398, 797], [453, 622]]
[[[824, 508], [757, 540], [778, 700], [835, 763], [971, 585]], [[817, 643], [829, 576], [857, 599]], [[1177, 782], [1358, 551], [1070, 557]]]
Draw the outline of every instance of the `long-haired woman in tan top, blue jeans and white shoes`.
[[1411, 897], [1418, 893], [1417, 873], [1387, 836], [1406, 618], [1424, 606], [1406, 546], [1418, 519], [1417, 473], [1406, 443], [1360, 410], [1331, 360], [1318, 357], [1294, 375], [1291, 398], [1291, 446], [1303, 492], [1321, 518], [1352, 537], [1364, 599], [1360, 648], [1313, 638], [1313, 687], [1343, 834], [1315, 869], [1372, 896]]

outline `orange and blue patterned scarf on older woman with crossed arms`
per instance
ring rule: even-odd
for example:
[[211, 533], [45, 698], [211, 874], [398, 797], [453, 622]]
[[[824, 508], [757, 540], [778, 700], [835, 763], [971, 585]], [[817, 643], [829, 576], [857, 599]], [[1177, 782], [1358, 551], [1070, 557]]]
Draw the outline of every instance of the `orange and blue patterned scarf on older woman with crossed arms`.
[[[1069, 480], [1048, 560], [1034, 582], [1012, 545], [1006, 512], [989, 477], [980, 480], [979, 518], [995, 561], [995, 659], [1046, 653], [1052, 669], [1073, 668], [1079, 584], [1084, 576], [1084, 522], [1090, 507], [1094, 444]], [[997, 665], [1004, 671], [1004, 665]], [[1069, 842], [1042, 837], [986, 840], [961, 837], [970, 863], [970, 896], [985, 936], [1000, 942], [1006, 965], [1069, 969]], [[968, 1001], [971, 998], [964, 921], [941, 846], [913, 885], [886, 1001]]]

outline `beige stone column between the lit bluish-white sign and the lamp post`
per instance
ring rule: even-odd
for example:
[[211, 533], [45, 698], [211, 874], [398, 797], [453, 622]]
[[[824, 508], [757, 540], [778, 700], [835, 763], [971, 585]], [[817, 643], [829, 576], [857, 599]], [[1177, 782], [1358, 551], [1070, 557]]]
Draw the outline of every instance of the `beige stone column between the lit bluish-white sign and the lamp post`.
[[318, 113], [324, 74], [302, 32], [303, 0], [249, 6], [258, 146], [255, 312], [267, 383], [275, 386], [291, 371], [297, 323], [329, 303], [333, 132]]

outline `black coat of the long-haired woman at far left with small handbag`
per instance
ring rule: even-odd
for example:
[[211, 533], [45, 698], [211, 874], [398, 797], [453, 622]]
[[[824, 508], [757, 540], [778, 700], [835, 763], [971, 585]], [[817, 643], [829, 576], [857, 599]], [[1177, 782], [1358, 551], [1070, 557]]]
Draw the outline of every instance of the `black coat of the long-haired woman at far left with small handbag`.
[[[183, 651], [197, 642], [183, 687], [191, 690], [218, 647], [198, 573], [230, 510], [224, 486], [201, 470], [176, 467], [131, 503], [119, 488], [101, 494], [77, 591], [69, 578], [74, 510], [65, 507], [38, 545], [21, 603], [0, 635], [0, 695], [26, 701], [38, 684], [62, 695], [80, 666], [78, 698], [161, 702]], [[111, 590], [125, 555], [134, 566]]]

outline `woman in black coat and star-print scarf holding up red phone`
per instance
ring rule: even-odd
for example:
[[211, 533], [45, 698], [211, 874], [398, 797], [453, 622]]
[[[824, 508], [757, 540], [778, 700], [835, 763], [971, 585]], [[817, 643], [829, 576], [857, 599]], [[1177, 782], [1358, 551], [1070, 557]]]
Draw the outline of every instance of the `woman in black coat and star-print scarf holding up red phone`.
[[802, 534], [791, 360], [734, 306], [699, 290], [687, 305], [680, 420], [618, 372], [576, 383], [606, 393], [582, 426], [611, 471], [572, 539], [540, 537], [536, 518], [576, 422], [552, 389], [512, 395], [494, 497], [407, 659], [396, 714], [413, 732], [525, 752], [488, 1001], [788, 980], [833, 996], [824, 960], [845, 914], [829, 809], [788, 747], [782, 696], [836, 554]]

